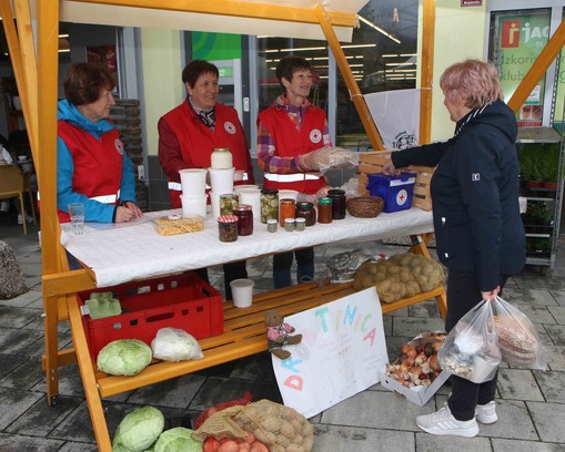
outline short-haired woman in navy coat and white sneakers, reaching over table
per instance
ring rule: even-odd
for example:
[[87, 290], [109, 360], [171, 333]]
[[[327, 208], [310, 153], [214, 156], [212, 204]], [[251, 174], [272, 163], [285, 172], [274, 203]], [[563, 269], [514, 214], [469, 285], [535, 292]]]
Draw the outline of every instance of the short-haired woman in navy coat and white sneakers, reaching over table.
[[[450, 331], [481, 300], [498, 295], [525, 265], [525, 235], [518, 207], [519, 162], [514, 112], [502, 101], [492, 63], [466, 60], [440, 80], [450, 119], [447, 142], [393, 152], [384, 172], [407, 165], [437, 166], [431, 183], [437, 256], [448, 270]], [[432, 434], [475, 436], [477, 420], [496, 422], [496, 377], [476, 384], [452, 376], [452, 394], [417, 425]]]

